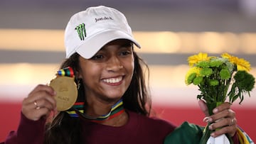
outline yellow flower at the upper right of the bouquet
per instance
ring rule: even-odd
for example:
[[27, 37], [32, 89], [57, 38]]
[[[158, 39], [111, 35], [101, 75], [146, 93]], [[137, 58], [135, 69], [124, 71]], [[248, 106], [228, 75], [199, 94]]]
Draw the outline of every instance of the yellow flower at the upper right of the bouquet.
[[250, 62], [243, 58], [234, 57], [232, 55], [228, 55], [228, 53], [223, 53], [221, 56], [227, 58], [230, 62], [237, 65], [238, 70], [245, 70], [247, 72], [251, 70]]

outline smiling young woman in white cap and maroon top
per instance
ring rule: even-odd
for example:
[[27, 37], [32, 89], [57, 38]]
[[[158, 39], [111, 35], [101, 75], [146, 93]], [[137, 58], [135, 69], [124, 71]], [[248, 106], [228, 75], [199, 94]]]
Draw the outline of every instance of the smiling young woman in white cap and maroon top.
[[[134, 44], [140, 48], [116, 9], [96, 6], [76, 13], [65, 29], [67, 59], [61, 68], [74, 70], [79, 109], [58, 111], [50, 119], [57, 92], [39, 84], [23, 100], [18, 130], [5, 143], [164, 143], [176, 126], [149, 117], [151, 99], [144, 77], [148, 67]], [[206, 111], [202, 101], [199, 105]], [[239, 143], [230, 104], [213, 112], [206, 118], [215, 122], [211, 128], [224, 127], [213, 137], [228, 133]]]

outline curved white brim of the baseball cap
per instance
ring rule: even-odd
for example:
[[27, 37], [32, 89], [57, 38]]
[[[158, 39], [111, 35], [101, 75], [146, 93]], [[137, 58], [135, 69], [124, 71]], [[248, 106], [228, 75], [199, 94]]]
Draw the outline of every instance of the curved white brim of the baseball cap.
[[80, 47], [76, 50], [79, 55], [84, 57], [85, 59], [90, 59], [93, 55], [96, 54], [104, 45], [110, 43], [112, 40], [117, 39], [127, 39], [131, 40], [138, 48], [141, 48], [139, 43], [132, 38], [131, 35], [124, 33], [122, 31], [105, 31], [102, 33], [97, 33], [93, 35], [91, 38], [85, 40], [85, 42], [80, 45]]

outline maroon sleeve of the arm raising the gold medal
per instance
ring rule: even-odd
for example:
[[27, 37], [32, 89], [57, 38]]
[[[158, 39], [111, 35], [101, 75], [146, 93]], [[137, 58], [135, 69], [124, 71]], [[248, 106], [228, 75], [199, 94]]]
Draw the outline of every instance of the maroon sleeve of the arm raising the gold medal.
[[44, 118], [32, 121], [21, 113], [17, 131], [11, 131], [1, 144], [43, 144], [45, 123], [46, 120]]

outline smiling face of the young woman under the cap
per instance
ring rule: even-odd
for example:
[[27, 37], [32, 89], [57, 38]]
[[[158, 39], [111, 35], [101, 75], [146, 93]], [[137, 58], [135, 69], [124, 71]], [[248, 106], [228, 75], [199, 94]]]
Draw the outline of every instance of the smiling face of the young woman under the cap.
[[80, 57], [79, 77], [87, 99], [117, 100], [126, 92], [134, 72], [134, 55], [129, 40], [113, 40], [92, 58]]

